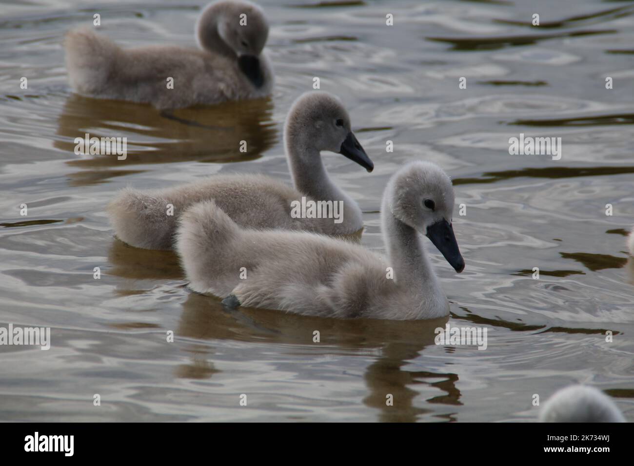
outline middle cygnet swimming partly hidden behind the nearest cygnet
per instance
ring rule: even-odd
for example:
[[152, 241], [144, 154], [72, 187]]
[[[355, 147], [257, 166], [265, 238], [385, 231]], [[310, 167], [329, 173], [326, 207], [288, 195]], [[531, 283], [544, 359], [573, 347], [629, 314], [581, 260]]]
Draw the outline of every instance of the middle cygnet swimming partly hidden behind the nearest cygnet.
[[[306, 230], [348, 235], [363, 228], [361, 209], [330, 181], [320, 151], [338, 152], [372, 171], [374, 165], [350, 129], [350, 117], [338, 98], [308, 92], [292, 105], [284, 127], [287, 162], [295, 189], [262, 175], [218, 175], [172, 188], [125, 188], [108, 205], [120, 240], [145, 249], [172, 249], [177, 219], [191, 204], [213, 199], [240, 226]], [[297, 217], [302, 197], [330, 202], [340, 218]], [[306, 202], [306, 205], [308, 205]], [[168, 205], [173, 215], [167, 215]]]

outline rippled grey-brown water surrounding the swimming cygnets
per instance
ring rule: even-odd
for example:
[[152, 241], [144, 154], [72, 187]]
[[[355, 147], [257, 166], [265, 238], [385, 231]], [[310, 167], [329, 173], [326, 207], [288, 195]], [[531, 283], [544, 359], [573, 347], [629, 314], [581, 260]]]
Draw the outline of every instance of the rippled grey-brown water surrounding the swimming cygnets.
[[[48, 326], [52, 339], [49, 351], [0, 346], [0, 420], [533, 421], [533, 394], [586, 382], [634, 421], [634, 266], [624, 245], [634, 224], [634, 3], [261, 4], [273, 97], [161, 115], [70, 93], [61, 40], [93, 10], [0, 3], [0, 326]], [[125, 46], [191, 46], [205, 3], [100, 5], [101, 29]], [[540, 28], [528, 26], [533, 13]], [[287, 180], [283, 119], [313, 77], [343, 98], [375, 162], [367, 174], [324, 157], [365, 212], [367, 247], [384, 250], [380, 196], [398, 167], [432, 160], [454, 179], [467, 206], [454, 217], [465, 271], [427, 245], [451, 325], [487, 328], [486, 351], [434, 345], [444, 321], [227, 313], [188, 292], [173, 254], [113, 237], [104, 207], [126, 185], [219, 172]], [[127, 160], [75, 155], [86, 132], [127, 136]], [[509, 155], [519, 133], [562, 138], [562, 159]], [[236, 151], [241, 139], [252, 141], [248, 157]]]

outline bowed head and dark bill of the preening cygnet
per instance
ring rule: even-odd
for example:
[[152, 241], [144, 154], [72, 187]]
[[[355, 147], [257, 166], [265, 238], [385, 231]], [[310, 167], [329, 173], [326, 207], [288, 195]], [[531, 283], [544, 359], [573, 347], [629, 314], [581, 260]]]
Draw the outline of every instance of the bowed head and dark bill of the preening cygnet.
[[201, 13], [197, 34], [203, 48], [225, 54], [230, 51], [250, 81], [257, 87], [262, 85], [259, 56], [269, 36], [269, 25], [259, 6], [243, 0], [216, 1]]

